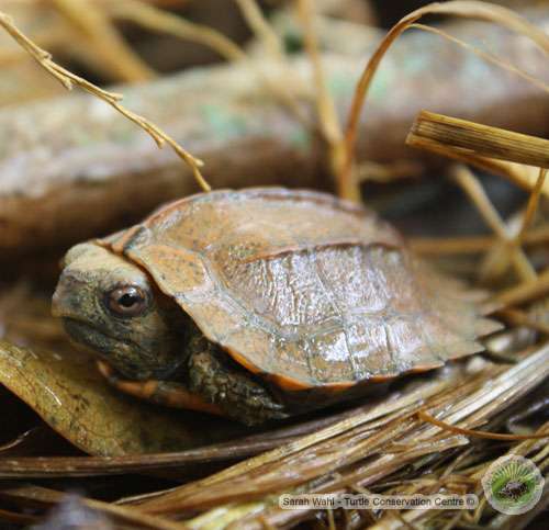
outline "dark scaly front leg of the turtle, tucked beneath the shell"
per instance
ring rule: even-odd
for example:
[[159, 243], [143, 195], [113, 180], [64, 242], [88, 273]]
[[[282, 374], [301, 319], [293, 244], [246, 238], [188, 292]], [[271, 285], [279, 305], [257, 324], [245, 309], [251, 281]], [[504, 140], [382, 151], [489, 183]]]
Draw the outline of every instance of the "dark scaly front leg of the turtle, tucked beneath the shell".
[[193, 394], [246, 425], [289, 416], [266, 387], [225, 362], [225, 352], [205, 339], [199, 343], [188, 361], [188, 386]]

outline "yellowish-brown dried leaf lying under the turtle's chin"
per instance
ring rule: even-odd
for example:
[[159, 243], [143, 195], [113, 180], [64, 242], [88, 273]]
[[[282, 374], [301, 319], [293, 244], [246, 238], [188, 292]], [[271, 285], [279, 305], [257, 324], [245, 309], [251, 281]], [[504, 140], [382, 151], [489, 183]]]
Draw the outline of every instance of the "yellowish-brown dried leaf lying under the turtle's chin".
[[235, 438], [244, 427], [155, 407], [111, 388], [78, 352], [0, 341], [0, 383], [81, 450], [98, 455], [178, 451]]

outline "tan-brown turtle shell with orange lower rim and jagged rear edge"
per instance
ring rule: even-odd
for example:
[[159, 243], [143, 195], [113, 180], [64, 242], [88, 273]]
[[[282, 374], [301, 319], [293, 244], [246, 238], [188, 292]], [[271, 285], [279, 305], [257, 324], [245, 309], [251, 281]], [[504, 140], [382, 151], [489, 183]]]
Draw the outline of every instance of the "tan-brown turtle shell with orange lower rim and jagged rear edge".
[[[284, 390], [344, 390], [482, 350], [498, 324], [377, 215], [332, 195], [215, 191], [100, 241], [208, 339]], [[328, 390], [328, 388], [327, 388]]]

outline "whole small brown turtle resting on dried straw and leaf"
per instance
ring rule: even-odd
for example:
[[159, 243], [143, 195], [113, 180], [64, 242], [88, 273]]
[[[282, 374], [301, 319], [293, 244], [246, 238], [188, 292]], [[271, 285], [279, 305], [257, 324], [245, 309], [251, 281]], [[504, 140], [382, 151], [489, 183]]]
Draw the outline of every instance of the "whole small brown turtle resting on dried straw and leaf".
[[72, 247], [53, 311], [119, 390], [257, 425], [482, 351], [484, 297], [362, 205], [250, 188]]

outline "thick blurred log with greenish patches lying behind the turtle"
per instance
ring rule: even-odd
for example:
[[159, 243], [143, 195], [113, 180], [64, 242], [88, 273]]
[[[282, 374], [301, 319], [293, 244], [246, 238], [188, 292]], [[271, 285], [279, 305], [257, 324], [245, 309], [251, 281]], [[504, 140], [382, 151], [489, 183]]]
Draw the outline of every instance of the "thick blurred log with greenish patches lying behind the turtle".
[[[468, 42], [488, 42], [509, 63], [549, 79], [547, 58], [524, 36], [471, 22], [445, 30]], [[341, 116], [369, 53], [365, 49], [363, 60], [324, 56]], [[298, 77], [312, 83], [305, 57], [293, 59], [288, 79], [276, 65], [264, 60], [261, 68], [289, 89]], [[214, 188], [329, 187], [321, 138], [247, 65], [198, 68], [115, 90], [125, 93], [127, 108], [202, 158]], [[425, 156], [404, 144], [423, 108], [522, 133], [549, 133], [546, 92], [438, 36], [411, 32], [378, 72], [362, 115], [359, 159]], [[159, 150], [143, 131], [91, 97], [63, 95], [0, 112], [0, 267], [117, 229], [197, 190], [171, 151]]]

